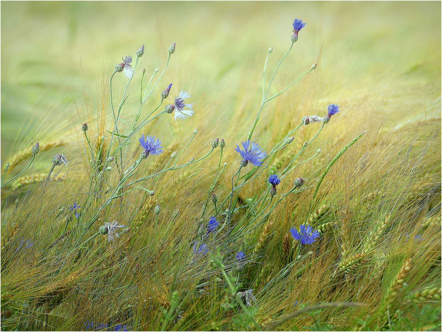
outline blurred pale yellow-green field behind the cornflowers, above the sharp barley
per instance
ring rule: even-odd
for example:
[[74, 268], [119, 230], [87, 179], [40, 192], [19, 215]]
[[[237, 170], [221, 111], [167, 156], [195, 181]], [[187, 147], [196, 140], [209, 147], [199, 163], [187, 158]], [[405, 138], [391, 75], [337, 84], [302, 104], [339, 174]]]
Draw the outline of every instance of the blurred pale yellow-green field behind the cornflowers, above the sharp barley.
[[[95, 91], [95, 80], [143, 43], [139, 68], [149, 73], [176, 42], [163, 84], [174, 83], [175, 94], [191, 91], [197, 109], [211, 109], [214, 121], [231, 116], [245, 98], [252, 113], [267, 49], [274, 48], [269, 66], [275, 66], [295, 17], [307, 25], [278, 87], [313, 62], [318, 68], [283, 98], [302, 98], [297, 90], [309, 84], [320, 84], [312, 99], [326, 103], [378, 98], [376, 91], [389, 94], [382, 112], [400, 117], [418, 112], [423, 98], [439, 103], [441, 6], [434, 1], [3, 1], [1, 9], [2, 156], [23, 122], [48, 113], [75, 117], [72, 99], [84, 95], [83, 78]], [[185, 125], [194, 126], [198, 113]], [[342, 116], [358, 120], [351, 112]]]

